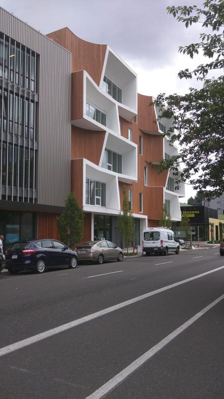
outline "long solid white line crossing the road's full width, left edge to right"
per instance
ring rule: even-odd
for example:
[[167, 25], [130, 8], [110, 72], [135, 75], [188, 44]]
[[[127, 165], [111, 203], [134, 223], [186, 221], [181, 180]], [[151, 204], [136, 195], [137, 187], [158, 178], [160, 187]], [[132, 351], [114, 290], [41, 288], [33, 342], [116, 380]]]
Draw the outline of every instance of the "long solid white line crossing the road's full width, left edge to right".
[[6, 355], [8, 353], [11, 353], [13, 351], [17, 351], [18, 349], [24, 348], [28, 345], [34, 344], [35, 342], [44, 340], [45, 338], [49, 338], [49, 337], [52, 337], [53, 335], [62, 333], [63, 331], [69, 330], [70, 328], [79, 326], [80, 324], [97, 319], [98, 317], [101, 317], [101, 316], [105, 316], [111, 312], [114, 312], [115, 310], [119, 310], [121, 308], [124, 308], [125, 306], [131, 305], [132, 303], [136, 303], [138, 301], [149, 298], [150, 296], [159, 294], [160, 292], [169, 290], [171, 288], [178, 287], [179, 285], [188, 283], [189, 281], [197, 280], [198, 278], [207, 276], [208, 274], [215, 273], [216, 271], [219, 271], [222, 269], [224, 269], [224, 266], [218, 267], [217, 269], [213, 269], [213, 270], [207, 271], [202, 274], [198, 274], [197, 276], [194, 276], [194, 277], [187, 278], [186, 280], [178, 281], [177, 283], [167, 285], [167, 286], [159, 288], [155, 291], [148, 292], [147, 294], [143, 294], [143, 295], [137, 296], [136, 298], [129, 299], [128, 301], [118, 303], [117, 305], [113, 305], [110, 308], [100, 310], [99, 312], [92, 313], [88, 316], [84, 316], [80, 319], [71, 321], [66, 324], [62, 324], [61, 326], [52, 328], [51, 330], [44, 331], [43, 333], [26, 338], [22, 341], [15, 342], [14, 344], [0, 348], [0, 357]]

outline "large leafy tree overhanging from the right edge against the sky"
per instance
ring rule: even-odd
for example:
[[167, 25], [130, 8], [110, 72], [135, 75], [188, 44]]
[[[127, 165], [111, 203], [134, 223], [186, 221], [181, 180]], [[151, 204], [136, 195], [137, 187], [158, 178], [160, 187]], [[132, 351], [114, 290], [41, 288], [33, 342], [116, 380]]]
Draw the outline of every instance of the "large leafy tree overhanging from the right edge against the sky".
[[[158, 120], [171, 120], [166, 135], [170, 145], [178, 141], [181, 147], [178, 155], [154, 167], [159, 173], [171, 169], [177, 189], [181, 182], [188, 182], [195, 190], [203, 190], [206, 198], [215, 198], [224, 192], [224, 2], [207, 0], [203, 6], [167, 7], [186, 28], [200, 24], [205, 29], [197, 43], [179, 47], [180, 53], [191, 58], [199, 52], [206, 57], [204, 64], [178, 73], [180, 79], [195, 76], [202, 87], [191, 87], [185, 95], [159, 94], [150, 105], [159, 109]], [[220, 76], [211, 78], [215, 71]], [[181, 163], [184, 168], [179, 172]]]

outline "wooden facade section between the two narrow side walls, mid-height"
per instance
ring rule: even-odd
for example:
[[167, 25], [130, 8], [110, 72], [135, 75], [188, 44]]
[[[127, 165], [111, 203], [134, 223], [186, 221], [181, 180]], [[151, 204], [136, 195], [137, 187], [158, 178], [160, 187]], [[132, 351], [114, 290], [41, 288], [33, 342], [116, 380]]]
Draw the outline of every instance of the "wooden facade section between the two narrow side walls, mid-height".
[[86, 158], [99, 165], [105, 134], [105, 132], [72, 126], [72, 159]]

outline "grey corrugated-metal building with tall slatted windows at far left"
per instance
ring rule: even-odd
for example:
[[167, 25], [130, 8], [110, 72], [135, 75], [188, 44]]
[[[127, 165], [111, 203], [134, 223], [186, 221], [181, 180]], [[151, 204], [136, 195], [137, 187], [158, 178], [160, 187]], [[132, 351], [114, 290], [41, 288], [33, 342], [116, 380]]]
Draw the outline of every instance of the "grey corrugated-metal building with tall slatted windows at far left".
[[0, 8], [0, 233], [6, 245], [56, 234], [54, 220], [70, 192], [70, 104], [70, 52]]

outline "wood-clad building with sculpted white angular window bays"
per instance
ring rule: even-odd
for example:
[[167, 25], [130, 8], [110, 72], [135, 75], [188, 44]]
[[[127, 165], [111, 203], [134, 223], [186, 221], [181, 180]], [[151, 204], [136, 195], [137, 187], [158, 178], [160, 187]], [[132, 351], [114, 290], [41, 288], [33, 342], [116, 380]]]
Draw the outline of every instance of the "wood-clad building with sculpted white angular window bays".
[[120, 244], [117, 214], [125, 189], [134, 216], [135, 243], [156, 226], [166, 202], [173, 221], [181, 219], [174, 179], [158, 175], [148, 161], [176, 154], [161, 136], [167, 121], [156, 120], [152, 97], [137, 94], [137, 76], [105, 44], [84, 41], [68, 28], [48, 34], [72, 54], [71, 190], [85, 211], [84, 239]]

